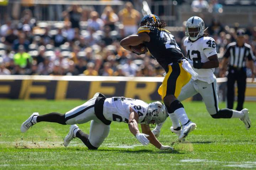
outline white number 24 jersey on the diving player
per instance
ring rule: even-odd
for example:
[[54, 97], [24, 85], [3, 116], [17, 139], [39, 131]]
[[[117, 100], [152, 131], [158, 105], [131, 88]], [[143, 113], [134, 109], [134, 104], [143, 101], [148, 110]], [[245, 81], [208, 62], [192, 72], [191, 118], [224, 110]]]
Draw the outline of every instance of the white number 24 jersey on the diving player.
[[130, 107], [138, 113], [140, 124], [144, 123], [144, 118], [148, 111], [148, 104], [142, 100], [135, 100], [125, 97], [106, 98], [103, 104], [103, 115], [107, 120], [128, 123]]

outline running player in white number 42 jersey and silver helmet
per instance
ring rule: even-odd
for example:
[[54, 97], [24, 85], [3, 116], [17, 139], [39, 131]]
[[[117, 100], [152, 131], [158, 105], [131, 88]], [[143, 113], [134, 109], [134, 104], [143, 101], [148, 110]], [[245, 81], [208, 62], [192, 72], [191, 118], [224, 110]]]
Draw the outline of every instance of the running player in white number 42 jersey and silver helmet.
[[[203, 97], [206, 109], [212, 118], [239, 118], [245, 124], [245, 128], [249, 130], [251, 121], [248, 109], [235, 111], [228, 108], [219, 109], [218, 107], [217, 82], [213, 73], [214, 68], [219, 67], [218, 56], [215, 41], [204, 34], [204, 22], [200, 17], [194, 16], [187, 20], [186, 36], [184, 46], [187, 57], [198, 76], [192, 76], [190, 82], [182, 87], [178, 100], [183, 101], [199, 93]], [[172, 115], [170, 117], [172, 120], [171, 131], [180, 136], [181, 125], [175, 114]], [[155, 136], [159, 136], [161, 126], [162, 124], [153, 130]]]

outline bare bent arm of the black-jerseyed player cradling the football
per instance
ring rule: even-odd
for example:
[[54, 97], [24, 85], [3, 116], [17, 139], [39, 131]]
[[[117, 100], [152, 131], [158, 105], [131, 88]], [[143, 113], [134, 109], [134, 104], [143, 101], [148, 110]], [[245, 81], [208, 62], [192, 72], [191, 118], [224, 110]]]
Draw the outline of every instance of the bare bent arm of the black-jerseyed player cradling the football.
[[132, 52], [132, 49], [130, 46], [137, 46], [139, 44], [142, 44], [144, 41], [146, 42], [150, 41], [150, 36], [148, 35], [148, 33], [140, 33], [138, 35], [129, 35], [120, 41], [120, 45], [124, 49]]

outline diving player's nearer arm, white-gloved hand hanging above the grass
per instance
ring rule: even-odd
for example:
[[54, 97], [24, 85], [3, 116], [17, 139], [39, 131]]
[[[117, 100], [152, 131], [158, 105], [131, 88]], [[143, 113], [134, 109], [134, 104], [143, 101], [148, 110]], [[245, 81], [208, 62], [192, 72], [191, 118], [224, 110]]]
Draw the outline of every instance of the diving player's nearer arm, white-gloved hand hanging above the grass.
[[129, 121], [128, 121], [129, 130], [137, 138], [137, 140], [140, 143], [142, 143], [142, 145], [148, 145], [149, 140], [146, 137], [148, 137], [149, 135], [141, 134], [139, 132], [138, 120], [139, 120], [138, 113], [136, 113], [135, 111], [133, 111], [132, 108], [130, 108], [130, 116], [129, 116]]

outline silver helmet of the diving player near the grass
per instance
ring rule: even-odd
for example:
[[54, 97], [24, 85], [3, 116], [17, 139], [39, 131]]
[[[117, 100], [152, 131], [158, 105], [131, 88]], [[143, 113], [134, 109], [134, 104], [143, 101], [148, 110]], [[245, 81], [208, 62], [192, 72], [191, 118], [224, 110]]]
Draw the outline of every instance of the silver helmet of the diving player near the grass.
[[151, 126], [155, 124], [160, 124], [165, 121], [167, 116], [168, 116], [167, 109], [164, 106], [164, 104], [162, 104], [159, 101], [152, 102], [152, 103], [149, 103], [148, 111], [145, 116], [145, 123], [151, 124]]

